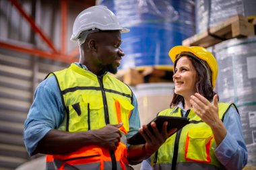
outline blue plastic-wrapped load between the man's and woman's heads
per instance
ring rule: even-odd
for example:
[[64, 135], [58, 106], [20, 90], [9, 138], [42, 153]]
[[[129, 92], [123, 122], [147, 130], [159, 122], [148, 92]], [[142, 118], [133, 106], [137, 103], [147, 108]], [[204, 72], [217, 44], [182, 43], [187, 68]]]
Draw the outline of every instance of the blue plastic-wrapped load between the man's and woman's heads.
[[195, 34], [193, 0], [103, 0], [98, 5], [106, 5], [131, 30], [122, 34], [125, 56], [119, 69], [171, 67], [170, 48]]

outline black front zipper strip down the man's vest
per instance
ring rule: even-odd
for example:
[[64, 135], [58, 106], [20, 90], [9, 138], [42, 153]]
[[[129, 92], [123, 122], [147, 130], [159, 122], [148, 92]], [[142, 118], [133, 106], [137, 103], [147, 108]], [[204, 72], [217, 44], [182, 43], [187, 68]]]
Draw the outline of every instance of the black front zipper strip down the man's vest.
[[[103, 105], [104, 105], [104, 116], [105, 116], [105, 124], [109, 124], [109, 115], [108, 115], [108, 103], [106, 102], [106, 92], [104, 90], [103, 85], [103, 76], [98, 76], [98, 82], [100, 83], [100, 89], [102, 93], [102, 99], [103, 99]], [[112, 162], [112, 170], [117, 170], [117, 159], [115, 157], [115, 152], [112, 150], [109, 150], [111, 162]]]

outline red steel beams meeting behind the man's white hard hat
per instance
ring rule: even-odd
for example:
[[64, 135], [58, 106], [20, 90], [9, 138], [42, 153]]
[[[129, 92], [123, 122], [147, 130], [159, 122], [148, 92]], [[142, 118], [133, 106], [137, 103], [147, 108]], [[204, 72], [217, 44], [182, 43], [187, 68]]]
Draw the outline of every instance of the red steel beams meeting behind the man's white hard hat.
[[[11, 50], [16, 50], [19, 52], [24, 52], [32, 55], [36, 55], [42, 58], [49, 58], [52, 60], [59, 60], [61, 62], [74, 62], [77, 60], [75, 56], [79, 55], [79, 48], [74, 48], [73, 50], [67, 52], [67, 12], [68, 12], [68, 3], [70, 0], [61, 0], [61, 47], [57, 49], [53, 42], [43, 33], [41, 28], [35, 23], [34, 19], [24, 11], [22, 5], [18, 2], [18, 0], [11, 0], [11, 4], [17, 9], [17, 11], [26, 19], [26, 21], [31, 26], [32, 30], [42, 38], [42, 40], [49, 46], [51, 50], [40, 50], [38, 48], [32, 48], [29, 46], [22, 46], [20, 44], [12, 44], [11, 42], [7, 42], [5, 40], [0, 40], [0, 47], [7, 48]], [[95, 0], [90, 1], [74, 1], [75, 3], [80, 5], [84, 5], [85, 7], [91, 7], [95, 5]], [[50, 52], [49, 52], [50, 51]]]

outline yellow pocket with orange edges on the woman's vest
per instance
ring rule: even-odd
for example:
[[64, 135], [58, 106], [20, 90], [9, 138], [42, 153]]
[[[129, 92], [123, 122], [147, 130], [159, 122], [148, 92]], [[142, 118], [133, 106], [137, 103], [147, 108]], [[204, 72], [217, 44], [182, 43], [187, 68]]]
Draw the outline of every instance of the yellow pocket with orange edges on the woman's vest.
[[213, 134], [210, 127], [189, 129], [185, 143], [185, 159], [199, 163], [210, 163], [210, 146]]

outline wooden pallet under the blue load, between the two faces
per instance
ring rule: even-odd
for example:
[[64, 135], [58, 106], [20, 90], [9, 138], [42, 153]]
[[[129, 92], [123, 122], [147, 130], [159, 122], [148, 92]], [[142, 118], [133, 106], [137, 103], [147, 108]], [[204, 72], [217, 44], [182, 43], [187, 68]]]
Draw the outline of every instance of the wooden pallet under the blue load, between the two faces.
[[143, 67], [119, 70], [116, 75], [117, 79], [123, 81], [127, 85], [135, 86], [141, 83], [164, 83], [172, 81], [172, 71], [170, 69], [163, 70], [156, 67]]

